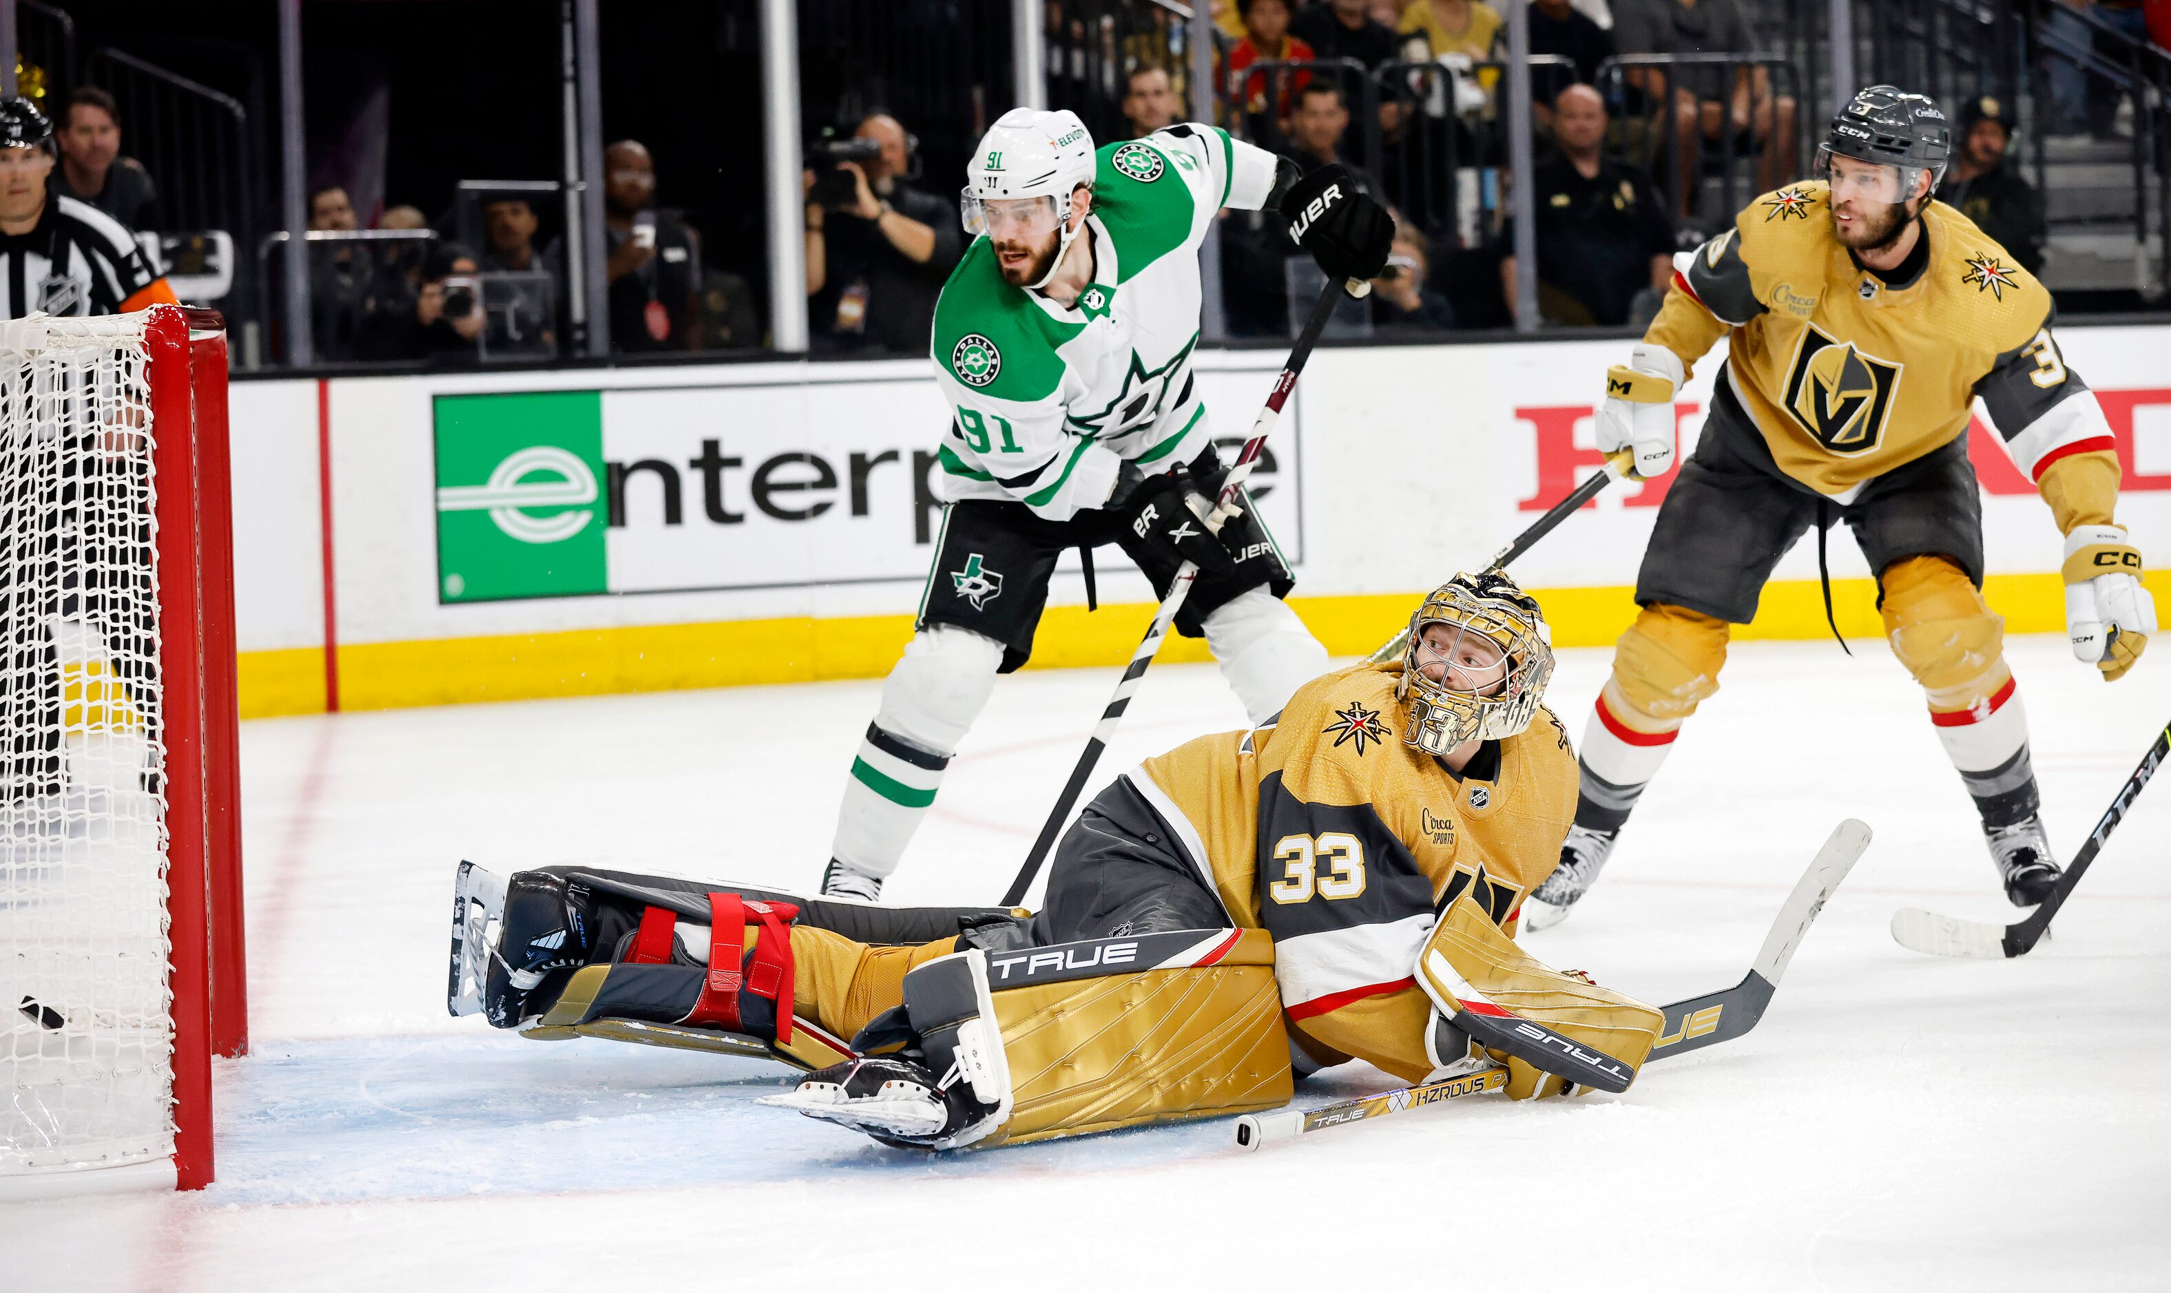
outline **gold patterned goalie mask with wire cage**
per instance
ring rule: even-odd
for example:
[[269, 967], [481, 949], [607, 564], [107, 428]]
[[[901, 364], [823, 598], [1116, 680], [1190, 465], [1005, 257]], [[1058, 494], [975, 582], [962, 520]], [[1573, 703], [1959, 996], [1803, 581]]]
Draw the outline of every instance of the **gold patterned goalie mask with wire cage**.
[[1409, 616], [1402, 740], [1446, 755], [1531, 727], [1552, 679], [1552, 633], [1537, 601], [1498, 571], [1457, 575]]

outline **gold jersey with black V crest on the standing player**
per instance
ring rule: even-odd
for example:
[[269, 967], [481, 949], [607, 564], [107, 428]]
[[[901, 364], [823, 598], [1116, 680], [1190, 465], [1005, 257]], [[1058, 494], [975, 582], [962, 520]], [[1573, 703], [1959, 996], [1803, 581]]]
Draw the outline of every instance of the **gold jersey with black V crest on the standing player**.
[[2108, 523], [2110, 427], [2058, 354], [2049, 293], [1943, 202], [1924, 208], [1921, 236], [1921, 273], [1887, 284], [1832, 232], [1826, 184], [1767, 193], [1676, 258], [1643, 338], [1689, 367], [1730, 332], [1726, 382], [1778, 469], [1819, 495], [1852, 501], [1967, 434], [1980, 395], [2060, 529]]

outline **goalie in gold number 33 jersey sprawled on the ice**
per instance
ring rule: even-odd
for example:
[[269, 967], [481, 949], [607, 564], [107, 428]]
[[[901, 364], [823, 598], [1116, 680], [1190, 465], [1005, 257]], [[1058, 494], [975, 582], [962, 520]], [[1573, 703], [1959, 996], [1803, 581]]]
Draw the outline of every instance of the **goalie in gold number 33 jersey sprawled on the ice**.
[[1409, 1080], [1505, 1059], [1515, 1098], [1622, 1089], [1659, 1011], [1511, 942], [1574, 811], [1550, 673], [1537, 603], [1461, 575], [1402, 660], [1118, 777], [1038, 916], [532, 870], [454, 1013], [760, 1046], [816, 1070], [771, 1104], [929, 1148], [1272, 1109], [1350, 1057]]

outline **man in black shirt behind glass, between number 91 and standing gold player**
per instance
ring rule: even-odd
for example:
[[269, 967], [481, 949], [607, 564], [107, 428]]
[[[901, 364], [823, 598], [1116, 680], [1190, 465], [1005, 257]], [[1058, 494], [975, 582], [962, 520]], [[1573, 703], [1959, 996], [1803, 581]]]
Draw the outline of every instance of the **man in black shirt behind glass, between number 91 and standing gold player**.
[[[1561, 91], [1552, 102], [1552, 137], [1559, 152], [1533, 176], [1539, 315], [1578, 328], [1620, 328], [1639, 312], [1648, 321], [1674, 273], [1665, 200], [1650, 176], [1604, 158], [1607, 104], [1596, 89]], [[1500, 291], [1513, 312], [1513, 226], [1502, 239], [1509, 256], [1500, 260]]]

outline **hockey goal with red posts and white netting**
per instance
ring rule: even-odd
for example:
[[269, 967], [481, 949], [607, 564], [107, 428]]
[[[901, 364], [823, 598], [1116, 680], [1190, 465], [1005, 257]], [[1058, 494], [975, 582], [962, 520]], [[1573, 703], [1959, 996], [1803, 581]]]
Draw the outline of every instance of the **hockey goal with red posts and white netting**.
[[211, 1180], [245, 1046], [226, 453], [217, 315], [0, 323], [0, 1198]]

